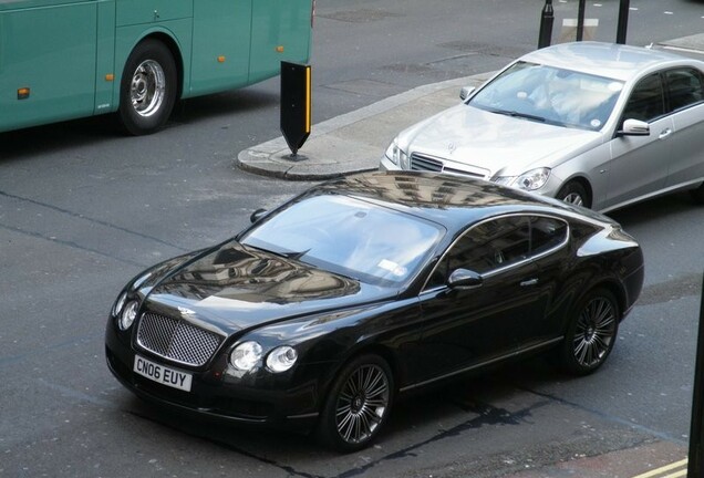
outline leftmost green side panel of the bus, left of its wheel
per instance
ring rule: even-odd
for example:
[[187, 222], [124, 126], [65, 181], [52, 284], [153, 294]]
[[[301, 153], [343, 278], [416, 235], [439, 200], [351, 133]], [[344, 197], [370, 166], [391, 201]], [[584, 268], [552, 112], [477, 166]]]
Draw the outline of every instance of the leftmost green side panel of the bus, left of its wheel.
[[0, 131], [93, 114], [97, 2], [0, 6]]

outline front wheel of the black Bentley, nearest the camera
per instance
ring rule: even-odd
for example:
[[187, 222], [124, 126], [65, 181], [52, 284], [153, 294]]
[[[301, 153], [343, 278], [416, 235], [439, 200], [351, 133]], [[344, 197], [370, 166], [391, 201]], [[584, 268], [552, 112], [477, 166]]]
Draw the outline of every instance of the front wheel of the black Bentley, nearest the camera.
[[393, 375], [382, 357], [361, 355], [352, 360], [330, 388], [318, 438], [343, 453], [367, 447], [386, 423], [393, 398]]

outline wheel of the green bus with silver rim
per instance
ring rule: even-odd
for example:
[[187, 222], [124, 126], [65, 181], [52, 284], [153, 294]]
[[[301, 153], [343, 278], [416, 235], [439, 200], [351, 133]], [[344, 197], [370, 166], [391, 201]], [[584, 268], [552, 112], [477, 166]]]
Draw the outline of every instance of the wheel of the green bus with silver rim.
[[176, 62], [157, 40], [139, 43], [127, 59], [120, 84], [120, 119], [133, 135], [154, 133], [176, 102]]

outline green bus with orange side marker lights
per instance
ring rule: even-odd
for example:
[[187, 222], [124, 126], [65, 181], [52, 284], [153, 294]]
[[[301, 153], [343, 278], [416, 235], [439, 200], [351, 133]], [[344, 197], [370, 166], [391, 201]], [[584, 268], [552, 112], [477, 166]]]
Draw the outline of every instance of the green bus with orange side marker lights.
[[314, 0], [0, 0], [0, 132], [117, 112], [163, 126], [179, 98], [308, 62]]

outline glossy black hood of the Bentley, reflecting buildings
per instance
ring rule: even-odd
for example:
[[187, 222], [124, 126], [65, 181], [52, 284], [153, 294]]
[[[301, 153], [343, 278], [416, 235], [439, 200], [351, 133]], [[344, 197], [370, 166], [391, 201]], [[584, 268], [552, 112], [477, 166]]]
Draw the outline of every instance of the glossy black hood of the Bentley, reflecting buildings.
[[395, 293], [230, 241], [158, 280], [145, 310], [229, 334]]

